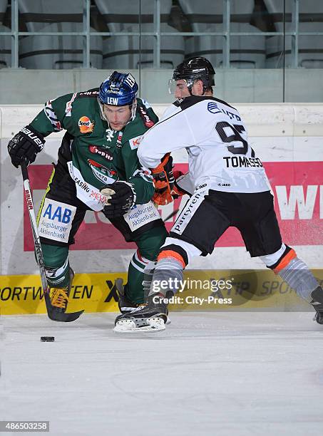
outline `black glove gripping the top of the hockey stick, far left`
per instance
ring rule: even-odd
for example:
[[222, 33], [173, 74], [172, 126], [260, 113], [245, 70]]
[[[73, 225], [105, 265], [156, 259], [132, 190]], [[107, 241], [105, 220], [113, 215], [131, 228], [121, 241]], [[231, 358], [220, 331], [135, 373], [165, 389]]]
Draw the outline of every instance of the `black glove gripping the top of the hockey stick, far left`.
[[43, 150], [44, 145], [43, 135], [31, 125], [26, 125], [8, 143], [12, 165], [18, 168], [23, 160], [26, 160], [26, 165], [31, 164], [36, 159], [37, 153]]

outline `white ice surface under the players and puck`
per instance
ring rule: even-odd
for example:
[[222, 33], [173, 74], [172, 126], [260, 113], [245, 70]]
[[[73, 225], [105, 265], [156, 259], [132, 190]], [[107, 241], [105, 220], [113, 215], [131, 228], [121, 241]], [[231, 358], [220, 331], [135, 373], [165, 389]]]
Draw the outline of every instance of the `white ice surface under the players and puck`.
[[138, 336], [113, 333], [114, 317], [1, 317], [0, 420], [71, 436], [323, 434], [312, 313], [172, 313]]

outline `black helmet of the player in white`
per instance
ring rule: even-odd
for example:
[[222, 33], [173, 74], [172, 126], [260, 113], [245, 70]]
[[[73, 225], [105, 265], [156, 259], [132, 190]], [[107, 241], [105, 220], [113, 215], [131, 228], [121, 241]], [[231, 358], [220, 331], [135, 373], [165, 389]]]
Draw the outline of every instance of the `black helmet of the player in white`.
[[203, 83], [203, 89], [206, 90], [215, 85], [214, 82], [215, 71], [212, 67], [212, 63], [207, 61], [202, 56], [195, 56], [193, 58], [185, 59], [174, 70], [173, 81], [179, 81], [183, 79], [188, 85], [188, 89], [191, 90], [193, 83], [200, 79]]

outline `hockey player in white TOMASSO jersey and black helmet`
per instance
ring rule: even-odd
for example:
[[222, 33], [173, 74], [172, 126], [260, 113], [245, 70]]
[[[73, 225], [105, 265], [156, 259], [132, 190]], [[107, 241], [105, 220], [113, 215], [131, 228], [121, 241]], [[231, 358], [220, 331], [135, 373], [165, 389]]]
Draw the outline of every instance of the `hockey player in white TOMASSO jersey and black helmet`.
[[[165, 155], [185, 147], [189, 172], [178, 185], [185, 182], [193, 188], [160, 249], [147, 305], [118, 316], [116, 331], [165, 328], [166, 302], [178, 290], [175, 285], [183, 280], [183, 269], [193, 256], [212, 253], [217, 239], [230, 226], [240, 230], [250, 255], [259, 256], [312, 304], [317, 322], [323, 323], [323, 290], [294, 249], [282, 242], [262, 162], [248, 143], [238, 110], [213, 97], [214, 75], [205, 58], [180, 63], [173, 73], [178, 100], [140, 142], [140, 163], [153, 172], [156, 167], [163, 172]], [[161, 283], [170, 286], [158, 287]]]

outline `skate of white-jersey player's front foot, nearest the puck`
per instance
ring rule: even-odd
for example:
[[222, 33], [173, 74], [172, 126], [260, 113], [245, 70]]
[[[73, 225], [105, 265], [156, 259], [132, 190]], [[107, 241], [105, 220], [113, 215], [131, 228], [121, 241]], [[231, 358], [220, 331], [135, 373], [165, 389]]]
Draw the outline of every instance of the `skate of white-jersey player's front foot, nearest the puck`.
[[145, 305], [130, 313], [117, 316], [113, 331], [116, 333], [143, 333], [165, 330], [168, 308], [163, 299], [163, 295], [154, 294], [148, 297]]

